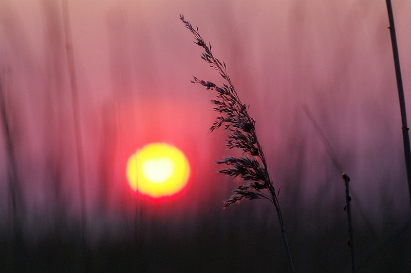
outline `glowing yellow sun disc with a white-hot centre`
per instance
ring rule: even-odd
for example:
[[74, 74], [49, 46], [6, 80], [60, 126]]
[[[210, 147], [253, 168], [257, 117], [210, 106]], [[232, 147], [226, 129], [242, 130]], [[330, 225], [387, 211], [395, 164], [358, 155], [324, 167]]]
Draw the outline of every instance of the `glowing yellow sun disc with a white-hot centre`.
[[126, 177], [130, 187], [153, 198], [179, 192], [189, 176], [190, 166], [183, 152], [166, 143], [145, 145], [127, 161]]

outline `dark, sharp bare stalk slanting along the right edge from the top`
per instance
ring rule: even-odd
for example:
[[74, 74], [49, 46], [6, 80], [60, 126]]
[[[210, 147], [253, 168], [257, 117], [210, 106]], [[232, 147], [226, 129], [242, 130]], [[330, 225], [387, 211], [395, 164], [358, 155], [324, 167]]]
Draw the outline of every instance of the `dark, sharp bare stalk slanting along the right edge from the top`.
[[389, 19], [388, 28], [389, 28], [389, 33], [391, 34], [391, 44], [393, 45], [395, 74], [397, 77], [397, 87], [398, 87], [398, 97], [400, 99], [402, 138], [404, 141], [405, 168], [407, 171], [409, 201], [411, 202], [411, 151], [409, 148], [409, 135], [408, 135], [409, 128], [407, 127], [407, 115], [405, 111], [404, 89], [402, 87], [400, 59], [398, 56], [397, 37], [395, 34], [394, 15], [393, 15], [393, 9], [391, 8], [391, 0], [386, 0], [386, 3], [387, 3], [388, 19]]

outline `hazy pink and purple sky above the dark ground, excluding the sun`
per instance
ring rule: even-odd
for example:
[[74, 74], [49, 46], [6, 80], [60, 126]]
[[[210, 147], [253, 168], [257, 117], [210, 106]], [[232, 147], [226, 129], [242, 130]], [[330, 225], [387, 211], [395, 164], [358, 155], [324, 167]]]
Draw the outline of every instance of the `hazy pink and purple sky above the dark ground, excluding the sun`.
[[[359, 207], [376, 230], [409, 220], [385, 1], [90, 0], [69, 1], [68, 8], [90, 233], [121, 229], [134, 210], [142, 211], [147, 230], [159, 217], [169, 229], [193, 231], [202, 213], [218, 222], [244, 206], [264, 222], [272, 209], [259, 201], [221, 209], [238, 184], [217, 177], [213, 162], [231, 152], [223, 147], [225, 132], [208, 134], [214, 94], [190, 83], [193, 75], [221, 80], [200, 59], [180, 13], [211, 42], [250, 105], [286, 211], [296, 209], [303, 223], [318, 226], [304, 211], [327, 217], [335, 200], [344, 206], [341, 174], [303, 111], [307, 105], [351, 177], [357, 225], [364, 224]], [[411, 121], [411, 2], [393, 1], [393, 10]], [[0, 52], [24, 228], [36, 230], [35, 237], [53, 228], [62, 210], [67, 219], [80, 211], [61, 2], [0, 0]], [[11, 167], [4, 133], [0, 140], [0, 218], [8, 219]], [[187, 154], [192, 175], [175, 200], [153, 205], [130, 192], [125, 162], [144, 144], [162, 141]], [[6, 228], [8, 221], [0, 222]]]

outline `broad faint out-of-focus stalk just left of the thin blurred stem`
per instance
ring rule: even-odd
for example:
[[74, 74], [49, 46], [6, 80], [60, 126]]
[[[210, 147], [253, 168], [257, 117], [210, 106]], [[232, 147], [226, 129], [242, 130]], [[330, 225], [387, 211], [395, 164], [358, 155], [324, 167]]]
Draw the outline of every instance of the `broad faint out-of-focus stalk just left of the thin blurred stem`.
[[64, 66], [66, 49], [64, 44], [63, 19], [60, 2], [41, 0], [45, 15], [46, 86], [44, 89], [44, 154], [46, 178], [44, 179], [46, 203], [53, 204], [48, 210], [53, 216], [54, 232], [61, 237], [67, 217], [67, 198], [63, 194], [63, 172], [65, 167], [64, 135], [67, 132], [64, 114], [65, 87]]

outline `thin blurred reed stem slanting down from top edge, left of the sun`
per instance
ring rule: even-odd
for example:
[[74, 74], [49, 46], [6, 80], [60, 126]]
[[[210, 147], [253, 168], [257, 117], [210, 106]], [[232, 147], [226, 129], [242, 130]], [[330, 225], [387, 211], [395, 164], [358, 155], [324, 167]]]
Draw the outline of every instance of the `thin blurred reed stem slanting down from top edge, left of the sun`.
[[71, 101], [73, 106], [73, 120], [74, 120], [74, 135], [76, 137], [77, 148], [77, 163], [79, 169], [79, 188], [80, 188], [80, 209], [81, 209], [81, 239], [83, 248], [83, 258], [86, 255], [86, 200], [85, 200], [85, 188], [84, 188], [84, 154], [83, 145], [81, 142], [81, 129], [80, 129], [80, 104], [79, 93], [77, 89], [76, 68], [74, 67], [73, 46], [71, 43], [70, 21], [68, 14], [67, 0], [62, 1], [63, 10], [63, 26], [64, 34], [66, 37], [66, 50], [67, 50], [67, 63], [70, 76], [71, 86]]

